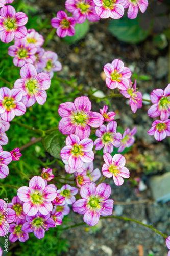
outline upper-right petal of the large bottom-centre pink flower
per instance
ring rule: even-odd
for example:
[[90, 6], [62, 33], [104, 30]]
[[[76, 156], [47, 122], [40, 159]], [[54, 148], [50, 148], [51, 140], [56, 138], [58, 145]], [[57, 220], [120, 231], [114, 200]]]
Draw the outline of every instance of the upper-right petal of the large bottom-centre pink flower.
[[111, 191], [111, 187], [108, 184], [101, 183], [96, 187], [96, 198], [98, 198], [100, 201], [105, 201], [110, 197]]

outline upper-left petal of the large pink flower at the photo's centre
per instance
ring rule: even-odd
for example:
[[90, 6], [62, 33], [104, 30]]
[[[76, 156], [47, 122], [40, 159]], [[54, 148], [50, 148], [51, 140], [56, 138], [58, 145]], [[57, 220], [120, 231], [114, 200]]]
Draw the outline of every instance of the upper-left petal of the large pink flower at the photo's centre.
[[73, 114], [77, 114], [77, 109], [75, 108], [74, 103], [65, 102], [60, 104], [58, 113], [61, 117], [70, 117], [74, 116]]

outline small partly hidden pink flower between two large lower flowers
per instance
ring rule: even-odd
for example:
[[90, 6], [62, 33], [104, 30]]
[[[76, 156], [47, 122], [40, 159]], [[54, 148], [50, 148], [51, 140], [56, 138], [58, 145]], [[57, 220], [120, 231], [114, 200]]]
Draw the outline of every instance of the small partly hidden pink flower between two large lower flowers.
[[65, 202], [67, 204], [73, 204], [76, 201], [74, 195], [76, 195], [78, 191], [78, 188], [71, 187], [70, 185], [66, 184], [62, 186], [61, 189], [57, 190], [57, 193], [60, 193], [61, 196], [65, 197]]

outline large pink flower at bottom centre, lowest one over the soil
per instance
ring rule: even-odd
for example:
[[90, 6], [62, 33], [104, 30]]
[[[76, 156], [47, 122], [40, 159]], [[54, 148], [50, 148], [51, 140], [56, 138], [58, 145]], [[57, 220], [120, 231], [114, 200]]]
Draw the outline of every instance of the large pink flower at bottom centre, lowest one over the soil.
[[100, 215], [112, 214], [113, 200], [108, 199], [111, 187], [101, 183], [97, 187], [93, 183], [86, 183], [80, 188], [82, 199], [77, 200], [72, 209], [78, 214], [84, 214], [83, 220], [87, 225], [94, 226], [98, 223]]

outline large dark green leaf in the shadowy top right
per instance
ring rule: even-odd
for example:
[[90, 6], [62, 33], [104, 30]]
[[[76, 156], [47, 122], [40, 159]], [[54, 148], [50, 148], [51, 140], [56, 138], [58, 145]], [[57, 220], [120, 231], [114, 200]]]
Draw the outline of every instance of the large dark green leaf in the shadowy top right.
[[136, 19], [123, 17], [111, 20], [108, 30], [120, 41], [138, 43], [147, 38], [150, 28], [143, 30], [139, 25], [138, 17]]

